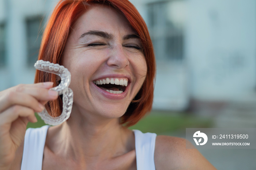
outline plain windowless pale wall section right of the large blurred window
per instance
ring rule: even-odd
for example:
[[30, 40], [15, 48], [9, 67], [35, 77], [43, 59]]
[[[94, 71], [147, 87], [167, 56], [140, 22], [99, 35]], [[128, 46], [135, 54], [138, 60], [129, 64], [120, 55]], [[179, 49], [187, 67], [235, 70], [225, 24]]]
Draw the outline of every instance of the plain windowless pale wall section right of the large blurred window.
[[[256, 1], [189, 0], [191, 96], [246, 99], [256, 87]], [[255, 96], [254, 96], [255, 97]]]

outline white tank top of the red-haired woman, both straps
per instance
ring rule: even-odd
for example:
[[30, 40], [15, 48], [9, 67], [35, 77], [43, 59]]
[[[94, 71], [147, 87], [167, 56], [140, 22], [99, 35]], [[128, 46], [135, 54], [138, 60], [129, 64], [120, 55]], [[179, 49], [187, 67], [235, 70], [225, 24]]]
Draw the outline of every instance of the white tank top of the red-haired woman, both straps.
[[[25, 134], [21, 170], [42, 170], [42, 160], [46, 134], [49, 126], [29, 128]], [[154, 151], [155, 133], [142, 133], [133, 130], [135, 134], [135, 151], [137, 170], [155, 170]]]

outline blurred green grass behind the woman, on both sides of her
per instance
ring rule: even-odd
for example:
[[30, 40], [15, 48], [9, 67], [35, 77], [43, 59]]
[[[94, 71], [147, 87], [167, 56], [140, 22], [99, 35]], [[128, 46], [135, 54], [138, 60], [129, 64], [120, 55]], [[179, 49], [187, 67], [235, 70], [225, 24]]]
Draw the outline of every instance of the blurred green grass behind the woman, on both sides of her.
[[[36, 114], [37, 123], [27, 125], [27, 128], [44, 126], [44, 121]], [[185, 133], [185, 128], [209, 128], [212, 125], [210, 118], [197, 117], [186, 112], [152, 111], [136, 125], [129, 129], [138, 129], [143, 133], [152, 132], [158, 135], [169, 135], [173, 132]]]

